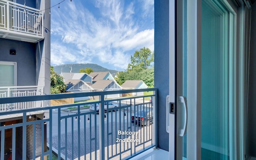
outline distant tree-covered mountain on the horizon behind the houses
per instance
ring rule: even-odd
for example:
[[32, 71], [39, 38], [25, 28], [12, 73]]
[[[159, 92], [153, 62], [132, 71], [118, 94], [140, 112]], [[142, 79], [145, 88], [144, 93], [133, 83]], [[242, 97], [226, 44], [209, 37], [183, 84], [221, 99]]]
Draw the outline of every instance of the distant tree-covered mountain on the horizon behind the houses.
[[54, 66], [54, 71], [57, 72], [58, 74], [62, 72], [70, 72], [71, 70], [71, 66], [72, 66], [72, 72], [73, 73], [79, 73], [79, 70], [81, 68], [92, 68], [94, 70], [94, 72], [110, 72], [112, 74], [112, 76], [116, 75], [116, 72], [118, 72], [117, 70], [109, 70], [107, 68], [104, 68], [102, 66], [99, 66], [98, 64], [62, 64], [60, 66]]

